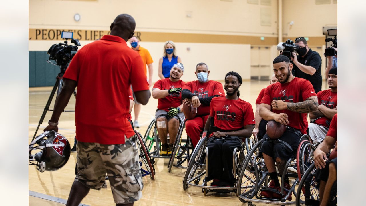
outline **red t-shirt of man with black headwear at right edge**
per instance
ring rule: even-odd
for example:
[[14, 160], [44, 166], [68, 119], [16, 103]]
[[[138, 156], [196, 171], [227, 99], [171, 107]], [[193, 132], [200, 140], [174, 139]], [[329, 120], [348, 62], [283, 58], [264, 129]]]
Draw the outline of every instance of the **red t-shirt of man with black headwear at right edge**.
[[[334, 109], [337, 106], [337, 92], [332, 92], [330, 89], [319, 91], [317, 93], [318, 96], [318, 103], [323, 104], [324, 106]], [[321, 117], [315, 120], [315, 124], [328, 127], [326, 124], [326, 120], [330, 122], [331, 119], [328, 119], [326, 117]]]

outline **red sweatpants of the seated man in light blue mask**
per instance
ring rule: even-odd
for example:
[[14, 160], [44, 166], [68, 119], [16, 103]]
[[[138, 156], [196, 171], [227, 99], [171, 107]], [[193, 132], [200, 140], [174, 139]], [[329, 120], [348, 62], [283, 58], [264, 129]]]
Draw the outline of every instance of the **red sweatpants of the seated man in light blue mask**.
[[203, 132], [209, 115], [195, 117], [186, 121], [186, 133], [191, 138], [193, 147], [196, 147], [199, 141], [199, 134]]

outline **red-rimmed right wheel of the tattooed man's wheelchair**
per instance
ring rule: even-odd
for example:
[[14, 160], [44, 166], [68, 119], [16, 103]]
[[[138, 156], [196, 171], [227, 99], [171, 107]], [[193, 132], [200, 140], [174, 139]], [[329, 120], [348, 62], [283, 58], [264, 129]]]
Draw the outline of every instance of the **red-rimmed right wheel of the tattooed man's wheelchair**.
[[307, 168], [314, 162], [314, 151], [315, 146], [310, 141], [303, 140], [300, 142], [296, 152], [296, 166], [299, 181]]

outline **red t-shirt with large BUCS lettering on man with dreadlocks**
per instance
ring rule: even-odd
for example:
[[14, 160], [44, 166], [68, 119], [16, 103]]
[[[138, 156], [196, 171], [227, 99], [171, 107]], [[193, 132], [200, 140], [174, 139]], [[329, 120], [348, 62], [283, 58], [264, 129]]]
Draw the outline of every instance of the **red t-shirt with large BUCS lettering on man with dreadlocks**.
[[251, 104], [240, 98], [233, 100], [226, 99], [226, 96], [214, 97], [210, 108], [214, 126], [222, 130], [237, 130], [255, 124]]

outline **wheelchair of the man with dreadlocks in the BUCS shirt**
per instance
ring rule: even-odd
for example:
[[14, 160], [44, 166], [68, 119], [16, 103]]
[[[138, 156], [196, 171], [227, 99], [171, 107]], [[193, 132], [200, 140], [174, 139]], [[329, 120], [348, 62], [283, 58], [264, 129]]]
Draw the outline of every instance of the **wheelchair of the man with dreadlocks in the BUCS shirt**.
[[[241, 148], [235, 148], [233, 152], [233, 174], [237, 177], [239, 169], [242, 167], [246, 154], [253, 146], [252, 138], [245, 138]], [[187, 169], [183, 177], [183, 189], [186, 190], [189, 185], [202, 188], [202, 192], [206, 195], [209, 191], [213, 192], [235, 192], [236, 184], [233, 187], [208, 186], [206, 181], [206, 171], [208, 171], [208, 137], [206, 133], [202, 134], [202, 139], [198, 141], [193, 154], [191, 155]], [[202, 180], [202, 181], [201, 181]]]

